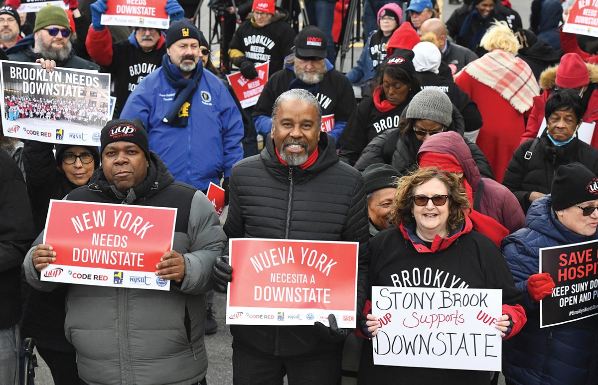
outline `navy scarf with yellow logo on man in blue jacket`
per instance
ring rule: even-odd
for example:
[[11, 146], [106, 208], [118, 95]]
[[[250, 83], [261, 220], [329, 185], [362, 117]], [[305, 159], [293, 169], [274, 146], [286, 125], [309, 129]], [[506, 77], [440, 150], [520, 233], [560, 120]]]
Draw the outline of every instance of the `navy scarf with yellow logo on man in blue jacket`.
[[176, 90], [175, 100], [162, 121], [172, 127], [186, 127], [189, 122], [189, 111], [193, 94], [197, 89], [197, 85], [202, 80], [202, 63], [197, 63], [193, 76], [185, 79], [182, 77], [179, 69], [170, 63], [170, 56], [164, 54], [162, 57], [162, 69], [166, 81], [170, 87]]

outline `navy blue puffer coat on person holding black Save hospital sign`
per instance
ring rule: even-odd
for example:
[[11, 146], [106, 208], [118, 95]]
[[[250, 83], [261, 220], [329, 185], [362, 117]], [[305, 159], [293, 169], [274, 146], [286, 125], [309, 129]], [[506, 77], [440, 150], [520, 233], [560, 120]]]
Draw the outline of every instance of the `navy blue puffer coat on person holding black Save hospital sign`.
[[[503, 343], [502, 372], [517, 385], [581, 385], [598, 383], [598, 317], [539, 328], [539, 304], [527, 293], [527, 279], [539, 272], [539, 248], [598, 239], [568, 230], [551, 209], [551, 196], [535, 200], [526, 227], [502, 240], [502, 253], [524, 292], [527, 323]], [[556, 277], [553, 277], [553, 279]]]

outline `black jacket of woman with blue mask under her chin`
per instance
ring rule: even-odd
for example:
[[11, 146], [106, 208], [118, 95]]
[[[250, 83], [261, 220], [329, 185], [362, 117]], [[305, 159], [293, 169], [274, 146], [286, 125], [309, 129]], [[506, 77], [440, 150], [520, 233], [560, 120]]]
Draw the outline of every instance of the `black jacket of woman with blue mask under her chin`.
[[[530, 150], [533, 143], [536, 145]], [[526, 152], [531, 151], [529, 159]], [[578, 137], [574, 137], [568, 144], [553, 147], [545, 129], [542, 136], [528, 139], [515, 150], [502, 184], [515, 194], [524, 213], [529, 209], [529, 195], [532, 191], [550, 194], [554, 172], [561, 164], [579, 162], [594, 174], [598, 173], [598, 149], [593, 148]]]

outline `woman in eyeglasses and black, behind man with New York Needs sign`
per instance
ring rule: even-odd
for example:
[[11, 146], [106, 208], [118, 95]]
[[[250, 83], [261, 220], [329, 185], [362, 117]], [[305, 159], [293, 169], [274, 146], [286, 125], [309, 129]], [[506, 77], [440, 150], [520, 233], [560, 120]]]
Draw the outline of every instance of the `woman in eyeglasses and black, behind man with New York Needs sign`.
[[[57, 145], [24, 140], [23, 163], [27, 192], [37, 233], [44, 230], [50, 199], [62, 199], [89, 182], [100, 166], [100, 153], [94, 146]], [[23, 337], [33, 337], [39, 355], [48, 364], [55, 384], [78, 384], [76, 353], [66, 340], [66, 286], [53, 292], [31, 287], [23, 312]]]

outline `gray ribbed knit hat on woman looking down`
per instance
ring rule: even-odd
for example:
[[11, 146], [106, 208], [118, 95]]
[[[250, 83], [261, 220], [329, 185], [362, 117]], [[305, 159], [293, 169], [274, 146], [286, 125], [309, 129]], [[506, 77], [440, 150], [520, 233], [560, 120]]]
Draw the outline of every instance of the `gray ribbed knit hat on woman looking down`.
[[443, 91], [426, 88], [411, 99], [405, 117], [433, 120], [449, 127], [453, 121], [453, 103]]

